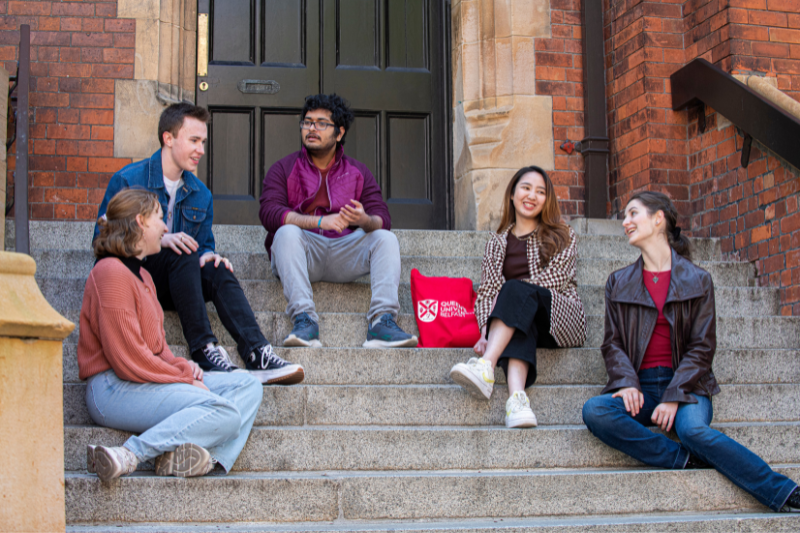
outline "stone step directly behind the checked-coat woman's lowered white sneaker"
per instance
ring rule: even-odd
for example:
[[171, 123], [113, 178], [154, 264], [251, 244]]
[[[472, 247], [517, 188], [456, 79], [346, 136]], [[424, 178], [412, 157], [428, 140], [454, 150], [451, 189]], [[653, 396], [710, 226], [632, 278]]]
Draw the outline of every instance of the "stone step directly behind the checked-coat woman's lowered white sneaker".
[[[714, 398], [716, 422], [800, 420], [800, 384], [722, 385]], [[599, 385], [534, 385], [526, 390], [540, 424], [582, 424], [587, 400]], [[64, 384], [64, 423], [92, 425], [86, 385]], [[490, 401], [458, 385], [294, 385], [264, 387], [256, 424], [262, 426], [499, 426], [508, 388]]]

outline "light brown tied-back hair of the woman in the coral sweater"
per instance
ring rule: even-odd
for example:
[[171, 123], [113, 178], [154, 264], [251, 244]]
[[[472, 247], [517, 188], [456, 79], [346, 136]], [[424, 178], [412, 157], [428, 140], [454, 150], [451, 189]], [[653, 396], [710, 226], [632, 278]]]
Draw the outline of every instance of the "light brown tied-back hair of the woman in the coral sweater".
[[143, 231], [136, 222], [136, 215], [147, 218], [158, 210], [158, 205], [158, 197], [147, 189], [123, 189], [115, 194], [108, 202], [105, 216], [97, 219], [100, 235], [92, 243], [95, 257], [139, 254]]

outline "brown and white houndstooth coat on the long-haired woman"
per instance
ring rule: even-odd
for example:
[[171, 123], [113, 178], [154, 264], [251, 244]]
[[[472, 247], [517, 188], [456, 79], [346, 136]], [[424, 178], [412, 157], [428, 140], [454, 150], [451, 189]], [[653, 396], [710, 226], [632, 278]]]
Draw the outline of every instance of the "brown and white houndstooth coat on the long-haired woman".
[[[503, 277], [503, 262], [506, 258], [508, 232], [513, 227], [514, 224], [511, 224], [503, 233], [493, 233], [486, 243], [481, 265], [481, 286], [475, 301], [475, 316], [480, 327], [486, 325], [492, 311], [492, 302], [506, 282]], [[580, 346], [586, 341], [586, 315], [575, 281], [578, 236], [572, 228], [569, 228], [569, 238], [569, 245], [551, 258], [543, 269], [539, 261], [539, 234], [534, 232], [528, 237], [528, 269], [531, 277], [523, 280], [550, 290], [553, 299], [550, 334], [562, 348]]]

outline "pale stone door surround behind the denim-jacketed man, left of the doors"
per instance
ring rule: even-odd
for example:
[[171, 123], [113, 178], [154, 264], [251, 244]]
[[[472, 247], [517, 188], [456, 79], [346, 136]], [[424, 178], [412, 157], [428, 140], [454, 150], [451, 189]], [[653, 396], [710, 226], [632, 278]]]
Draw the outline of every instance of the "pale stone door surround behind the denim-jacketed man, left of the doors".
[[117, 16], [136, 19], [132, 80], [117, 80], [114, 157], [158, 150], [158, 118], [174, 102], [195, 101], [197, 0], [118, 0]]

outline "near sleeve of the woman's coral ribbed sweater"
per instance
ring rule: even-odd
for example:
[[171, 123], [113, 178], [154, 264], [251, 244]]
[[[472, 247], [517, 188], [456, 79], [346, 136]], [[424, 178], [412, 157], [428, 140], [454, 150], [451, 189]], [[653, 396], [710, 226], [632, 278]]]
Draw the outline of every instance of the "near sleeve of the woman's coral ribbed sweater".
[[[161, 356], [147, 349], [135, 313], [104, 307], [97, 319], [103, 354], [120, 379], [137, 383], [194, 382], [188, 361], [179, 361], [169, 348]], [[172, 359], [168, 361], [169, 356]]]

